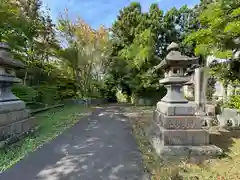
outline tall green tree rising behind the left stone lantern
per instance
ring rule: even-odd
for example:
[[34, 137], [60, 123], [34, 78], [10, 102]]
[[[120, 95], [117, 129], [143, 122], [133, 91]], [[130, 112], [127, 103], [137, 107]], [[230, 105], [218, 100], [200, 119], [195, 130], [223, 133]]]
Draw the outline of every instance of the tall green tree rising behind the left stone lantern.
[[[37, 85], [47, 80], [52, 69], [49, 58], [58, 47], [54, 25], [42, 12], [40, 0], [1, 0], [0, 40], [6, 41], [15, 58], [24, 61], [26, 71], [18, 71], [24, 84]], [[47, 62], [47, 63], [46, 63]]]

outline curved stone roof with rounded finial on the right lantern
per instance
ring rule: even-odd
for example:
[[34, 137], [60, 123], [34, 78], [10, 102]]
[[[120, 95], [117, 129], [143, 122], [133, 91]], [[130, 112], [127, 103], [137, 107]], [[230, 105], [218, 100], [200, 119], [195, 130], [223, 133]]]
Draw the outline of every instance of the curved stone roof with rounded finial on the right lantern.
[[159, 68], [167, 69], [170, 66], [188, 66], [192, 63], [195, 63], [199, 58], [198, 57], [188, 57], [185, 55], [182, 55], [182, 53], [179, 51], [179, 45], [172, 42], [168, 47], [167, 50], [169, 51], [166, 58], [161, 61], [159, 64]]

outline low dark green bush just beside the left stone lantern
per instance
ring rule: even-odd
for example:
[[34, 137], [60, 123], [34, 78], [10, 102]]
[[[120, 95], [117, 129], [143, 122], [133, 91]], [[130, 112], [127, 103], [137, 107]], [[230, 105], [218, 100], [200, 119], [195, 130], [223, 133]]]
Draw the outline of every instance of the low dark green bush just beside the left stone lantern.
[[37, 97], [37, 91], [34, 88], [23, 84], [13, 85], [12, 92], [15, 96], [25, 102], [35, 101]]

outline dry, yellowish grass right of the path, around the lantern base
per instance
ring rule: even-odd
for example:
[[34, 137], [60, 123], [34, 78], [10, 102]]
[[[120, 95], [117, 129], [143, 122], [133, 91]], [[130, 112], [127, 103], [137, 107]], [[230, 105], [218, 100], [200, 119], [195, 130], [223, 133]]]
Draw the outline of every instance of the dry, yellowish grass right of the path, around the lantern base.
[[154, 107], [128, 107], [134, 135], [152, 180], [238, 180], [240, 179], [240, 130], [217, 127], [209, 129], [212, 144], [222, 148], [224, 155], [198, 164], [184, 160], [164, 162], [153, 150], [145, 128], [149, 126]]

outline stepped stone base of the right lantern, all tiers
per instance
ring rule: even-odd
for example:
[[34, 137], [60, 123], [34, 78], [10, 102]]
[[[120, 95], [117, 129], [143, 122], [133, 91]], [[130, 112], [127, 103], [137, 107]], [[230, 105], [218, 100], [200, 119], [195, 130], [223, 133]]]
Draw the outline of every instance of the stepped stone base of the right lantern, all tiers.
[[[165, 104], [165, 106], [163, 106]], [[160, 107], [159, 107], [160, 106]], [[186, 105], [185, 105], [186, 106]], [[193, 104], [188, 104], [188, 108]], [[158, 102], [153, 122], [147, 132], [150, 141], [161, 156], [217, 156], [222, 150], [210, 145], [209, 133], [194, 111], [177, 111], [176, 104]], [[182, 107], [185, 108], [186, 107]]]

